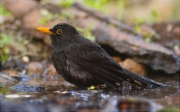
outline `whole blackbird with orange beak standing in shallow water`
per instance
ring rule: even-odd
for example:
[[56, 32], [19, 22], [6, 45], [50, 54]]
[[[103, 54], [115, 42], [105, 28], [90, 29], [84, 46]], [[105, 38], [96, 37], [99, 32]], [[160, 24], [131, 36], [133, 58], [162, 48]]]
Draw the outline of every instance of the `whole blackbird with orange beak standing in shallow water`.
[[73, 26], [59, 23], [52, 28], [39, 27], [50, 35], [52, 62], [62, 77], [81, 87], [107, 84], [117, 87], [124, 81], [134, 81], [150, 87], [164, 86], [121, 67], [95, 42], [83, 37]]

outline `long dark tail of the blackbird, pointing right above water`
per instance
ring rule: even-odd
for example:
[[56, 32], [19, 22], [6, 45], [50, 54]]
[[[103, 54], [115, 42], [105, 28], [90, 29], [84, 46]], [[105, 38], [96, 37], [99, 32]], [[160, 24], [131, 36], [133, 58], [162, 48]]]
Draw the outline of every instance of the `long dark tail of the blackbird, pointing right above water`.
[[138, 81], [138, 82], [140, 82], [142, 84], [146, 84], [150, 88], [156, 88], [156, 87], [163, 87], [163, 86], [165, 86], [162, 83], [159, 83], [159, 82], [156, 82], [154, 80], [148, 79], [146, 77], [137, 75], [137, 74], [135, 74], [135, 73], [125, 69], [125, 68], [123, 68], [123, 72], [126, 75], [126, 77], [131, 77], [132, 80], [136, 80], [136, 81]]

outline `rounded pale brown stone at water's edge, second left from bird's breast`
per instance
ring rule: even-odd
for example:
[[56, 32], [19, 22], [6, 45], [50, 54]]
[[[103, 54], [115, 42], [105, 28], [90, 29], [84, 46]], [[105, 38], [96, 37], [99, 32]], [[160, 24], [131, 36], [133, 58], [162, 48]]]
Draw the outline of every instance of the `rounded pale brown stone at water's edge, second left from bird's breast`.
[[28, 65], [27, 74], [42, 74], [43, 73], [43, 66], [39, 62], [31, 62]]

